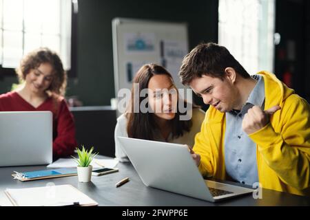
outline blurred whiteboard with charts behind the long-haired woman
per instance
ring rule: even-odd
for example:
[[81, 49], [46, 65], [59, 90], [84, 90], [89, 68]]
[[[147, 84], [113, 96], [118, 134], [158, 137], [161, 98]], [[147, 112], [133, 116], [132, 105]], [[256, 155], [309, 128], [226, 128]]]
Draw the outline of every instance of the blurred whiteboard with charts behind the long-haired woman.
[[112, 21], [115, 97], [119, 89], [132, 88], [132, 79], [146, 63], [166, 67], [176, 87], [178, 71], [188, 53], [186, 23], [116, 18]]

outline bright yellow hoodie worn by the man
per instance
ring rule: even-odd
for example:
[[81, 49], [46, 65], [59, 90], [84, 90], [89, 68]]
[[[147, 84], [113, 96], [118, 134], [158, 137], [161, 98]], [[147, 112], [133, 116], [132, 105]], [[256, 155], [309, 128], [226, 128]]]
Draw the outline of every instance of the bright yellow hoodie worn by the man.
[[[310, 107], [274, 74], [259, 72], [265, 83], [265, 109], [279, 105], [270, 123], [251, 133], [256, 143], [258, 179], [263, 188], [310, 195]], [[225, 113], [209, 107], [193, 150], [205, 177], [225, 179]]]

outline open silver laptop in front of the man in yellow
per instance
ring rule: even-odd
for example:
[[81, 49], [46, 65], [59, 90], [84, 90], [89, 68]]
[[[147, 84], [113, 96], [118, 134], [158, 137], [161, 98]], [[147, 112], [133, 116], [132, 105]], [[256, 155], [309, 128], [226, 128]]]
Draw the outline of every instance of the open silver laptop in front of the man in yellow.
[[203, 179], [187, 145], [118, 137], [145, 186], [207, 201], [219, 201], [254, 189]]

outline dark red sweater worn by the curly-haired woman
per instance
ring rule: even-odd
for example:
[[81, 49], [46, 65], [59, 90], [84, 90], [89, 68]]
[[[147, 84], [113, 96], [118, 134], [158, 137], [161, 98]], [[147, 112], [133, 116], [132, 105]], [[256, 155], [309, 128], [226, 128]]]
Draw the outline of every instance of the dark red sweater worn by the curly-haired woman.
[[16, 91], [10, 91], [0, 95], [0, 111], [52, 111], [54, 157], [65, 157], [74, 153], [77, 146], [74, 120], [63, 97], [50, 97], [34, 108]]

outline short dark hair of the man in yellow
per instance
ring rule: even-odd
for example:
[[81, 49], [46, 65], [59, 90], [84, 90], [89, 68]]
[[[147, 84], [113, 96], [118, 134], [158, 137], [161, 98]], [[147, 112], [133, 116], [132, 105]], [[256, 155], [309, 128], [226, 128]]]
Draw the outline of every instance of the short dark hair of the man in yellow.
[[223, 79], [227, 67], [234, 68], [243, 78], [250, 77], [226, 47], [216, 43], [202, 43], [185, 56], [178, 75], [183, 85], [189, 85], [194, 78], [203, 75]]

